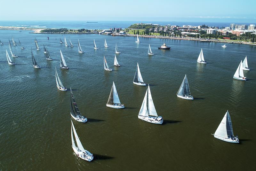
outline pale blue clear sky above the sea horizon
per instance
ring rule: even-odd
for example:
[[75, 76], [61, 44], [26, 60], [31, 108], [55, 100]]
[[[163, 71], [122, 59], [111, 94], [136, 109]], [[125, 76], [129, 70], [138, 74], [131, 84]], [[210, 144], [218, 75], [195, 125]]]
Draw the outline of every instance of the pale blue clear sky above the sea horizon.
[[0, 0], [0, 20], [256, 23], [256, 0]]

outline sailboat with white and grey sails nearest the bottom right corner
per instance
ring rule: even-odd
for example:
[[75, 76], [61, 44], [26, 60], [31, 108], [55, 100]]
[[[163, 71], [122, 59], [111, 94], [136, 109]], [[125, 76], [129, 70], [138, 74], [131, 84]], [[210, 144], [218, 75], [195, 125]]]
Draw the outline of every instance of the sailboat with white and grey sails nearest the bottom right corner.
[[239, 143], [238, 136], [234, 136], [232, 122], [228, 111], [225, 113], [219, 127], [212, 135], [215, 138], [229, 143]]

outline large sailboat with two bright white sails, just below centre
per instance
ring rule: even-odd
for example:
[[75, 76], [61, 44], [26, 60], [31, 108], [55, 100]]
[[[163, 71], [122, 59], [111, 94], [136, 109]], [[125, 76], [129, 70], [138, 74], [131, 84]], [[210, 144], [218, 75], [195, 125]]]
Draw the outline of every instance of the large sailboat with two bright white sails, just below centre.
[[149, 85], [148, 85], [148, 89], [146, 91], [145, 97], [143, 99], [142, 105], [140, 107], [138, 118], [150, 123], [155, 123], [155, 124], [163, 123], [162, 116], [158, 116], [156, 113], [156, 108], [153, 103]]

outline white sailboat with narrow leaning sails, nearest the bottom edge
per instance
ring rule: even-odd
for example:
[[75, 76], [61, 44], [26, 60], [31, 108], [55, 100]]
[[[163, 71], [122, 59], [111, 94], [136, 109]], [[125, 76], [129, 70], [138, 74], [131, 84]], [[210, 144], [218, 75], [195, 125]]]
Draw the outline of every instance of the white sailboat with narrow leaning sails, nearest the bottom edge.
[[[75, 141], [73, 138], [73, 133], [75, 135], [76, 144], [75, 144]], [[76, 133], [76, 129], [74, 127], [72, 120], [71, 120], [71, 140], [72, 140], [72, 148], [73, 148], [74, 152], [76, 153], [77, 157], [79, 157], [83, 160], [86, 160], [86, 161], [92, 161], [93, 154], [84, 149], [84, 147]], [[76, 147], [76, 145], [77, 145], [77, 147]]]

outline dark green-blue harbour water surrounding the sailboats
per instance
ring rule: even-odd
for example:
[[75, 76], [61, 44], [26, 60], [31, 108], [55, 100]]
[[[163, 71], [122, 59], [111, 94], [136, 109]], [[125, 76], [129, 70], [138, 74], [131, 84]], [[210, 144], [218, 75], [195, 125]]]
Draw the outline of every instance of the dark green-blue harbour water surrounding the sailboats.
[[[74, 47], [60, 44], [65, 35], [0, 30], [0, 170], [254, 170], [256, 168], [256, 47], [170, 39], [108, 35], [66, 35]], [[7, 64], [5, 49], [19, 56]], [[49, 40], [47, 40], [49, 36]], [[41, 50], [36, 51], [34, 38]], [[77, 49], [79, 39], [84, 54]], [[93, 49], [93, 39], [98, 50]], [[108, 48], [104, 48], [104, 39]], [[170, 51], [158, 50], [166, 43]], [[115, 44], [120, 67], [114, 67]], [[154, 56], [148, 56], [150, 43]], [[53, 61], [46, 61], [43, 44]], [[41, 69], [34, 69], [33, 54]], [[201, 48], [207, 64], [196, 62]], [[60, 50], [69, 70], [60, 69]], [[114, 70], [105, 71], [103, 55]], [[233, 79], [241, 60], [251, 71], [246, 82]], [[146, 87], [132, 83], [137, 62], [149, 83], [163, 125], [139, 120]], [[56, 88], [55, 67], [65, 87], [88, 118], [74, 122], [84, 148], [94, 159], [79, 159], [71, 147], [70, 91]], [[194, 100], [176, 93], [187, 74]], [[125, 109], [106, 107], [112, 81]], [[240, 144], [214, 138], [226, 111]]]

